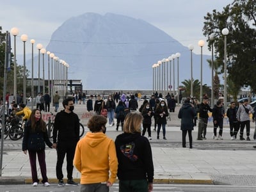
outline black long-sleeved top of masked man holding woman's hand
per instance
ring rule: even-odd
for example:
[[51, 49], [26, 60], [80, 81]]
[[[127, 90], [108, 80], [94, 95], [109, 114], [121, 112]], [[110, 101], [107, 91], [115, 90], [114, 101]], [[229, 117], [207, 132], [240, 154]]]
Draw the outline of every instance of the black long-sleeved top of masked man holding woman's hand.
[[54, 120], [53, 143], [77, 143], [79, 141], [79, 118], [76, 113], [57, 113]]

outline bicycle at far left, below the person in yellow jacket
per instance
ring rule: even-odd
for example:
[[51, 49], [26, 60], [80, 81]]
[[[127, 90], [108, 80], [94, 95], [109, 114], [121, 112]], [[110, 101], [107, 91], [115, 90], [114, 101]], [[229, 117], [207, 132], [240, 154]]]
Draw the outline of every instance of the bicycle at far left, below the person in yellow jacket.
[[[0, 123], [2, 125], [2, 121], [0, 120]], [[2, 133], [2, 126], [0, 127], [0, 135]], [[15, 120], [13, 122], [10, 120], [10, 118], [6, 118], [5, 124], [4, 124], [4, 140], [9, 136], [9, 138], [13, 141], [20, 140], [23, 135], [23, 129], [22, 129], [22, 123], [20, 123], [20, 119]]]

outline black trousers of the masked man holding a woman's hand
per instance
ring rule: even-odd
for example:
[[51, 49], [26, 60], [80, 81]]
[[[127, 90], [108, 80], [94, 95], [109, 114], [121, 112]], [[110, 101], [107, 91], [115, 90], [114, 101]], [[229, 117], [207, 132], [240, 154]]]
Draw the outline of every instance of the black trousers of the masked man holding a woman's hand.
[[58, 143], [57, 145], [57, 164], [56, 164], [56, 176], [57, 179], [63, 179], [62, 165], [67, 154], [67, 178], [73, 179], [73, 159], [76, 150], [76, 142]]

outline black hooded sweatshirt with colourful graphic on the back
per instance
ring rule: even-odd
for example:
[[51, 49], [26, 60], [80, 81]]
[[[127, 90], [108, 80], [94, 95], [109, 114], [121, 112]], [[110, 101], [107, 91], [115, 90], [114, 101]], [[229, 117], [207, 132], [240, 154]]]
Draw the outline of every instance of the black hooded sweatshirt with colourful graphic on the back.
[[116, 137], [119, 180], [147, 179], [153, 182], [154, 164], [152, 150], [147, 138], [140, 132], [123, 133]]

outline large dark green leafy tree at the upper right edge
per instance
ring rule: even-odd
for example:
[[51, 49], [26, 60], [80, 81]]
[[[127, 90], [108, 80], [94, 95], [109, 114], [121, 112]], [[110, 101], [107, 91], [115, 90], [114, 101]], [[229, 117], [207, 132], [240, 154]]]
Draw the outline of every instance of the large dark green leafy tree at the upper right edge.
[[222, 12], [213, 10], [204, 17], [204, 35], [214, 34], [209, 42], [209, 49], [214, 41], [216, 62], [224, 69], [223, 28], [228, 28], [227, 35], [227, 72], [232, 83], [237, 86], [250, 86], [256, 90], [256, 1], [234, 0], [223, 8]]

